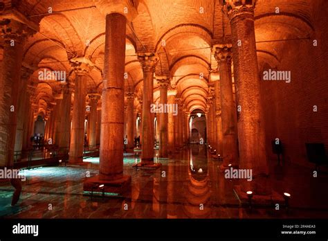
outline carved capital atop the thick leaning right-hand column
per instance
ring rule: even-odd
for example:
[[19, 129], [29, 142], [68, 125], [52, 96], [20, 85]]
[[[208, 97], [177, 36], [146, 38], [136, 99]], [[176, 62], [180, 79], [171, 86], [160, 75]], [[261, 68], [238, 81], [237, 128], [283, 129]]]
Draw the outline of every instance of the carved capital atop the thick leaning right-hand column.
[[256, 0], [224, 0], [223, 10], [230, 21], [243, 14], [254, 15]]

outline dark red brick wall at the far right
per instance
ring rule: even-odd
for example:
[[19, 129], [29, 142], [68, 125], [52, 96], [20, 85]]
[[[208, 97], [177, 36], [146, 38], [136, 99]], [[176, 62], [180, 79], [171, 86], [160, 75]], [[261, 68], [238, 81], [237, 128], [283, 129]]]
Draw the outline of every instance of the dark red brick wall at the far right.
[[[311, 40], [282, 43], [277, 70], [291, 71], [291, 83], [261, 80], [268, 157], [276, 159], [271, 140], [279, 138], [284, 159], [304, 166], [313, 166], [307, 161], [305, 143], [325, 143], [328, 152], [328, 22], [323, 17], [326, 8], [313, 4]], [[318, 39], [317, 47], [313, 38]], [[262, 71], [259, 74], [262, 77]]]

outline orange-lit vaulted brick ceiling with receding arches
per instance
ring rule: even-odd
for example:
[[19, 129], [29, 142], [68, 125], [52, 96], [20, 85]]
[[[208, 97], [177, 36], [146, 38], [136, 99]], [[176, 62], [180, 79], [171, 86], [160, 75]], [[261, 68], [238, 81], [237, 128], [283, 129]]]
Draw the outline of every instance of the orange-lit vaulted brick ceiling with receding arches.
[[[283, 42], [265, 41], [313, 35], [313, 1], [257, 0], [255, 35], [259, 66], [265, 63], [276, 66], [284, 49]], [[24, 51], [24, 65], [35, 69], [31, 81], [37, 82], [37, 72], [44, 68], [66, 71], [74, 78], [68, 57], [85, 56], [95, 64], [89, 76], [88, 91], [100, 92], [105, 21], [94, 7], [94, 1], [2, 2], [2, 8], [14, 6], [28, 19], [39, 23], [39, 33], [28, 40]], [[188, 111], [196, 107], [205, 110], [209, 71], [217, 69], [210, 46], [229, 42], [231, 37], [228, 19], [221, 11], [221, 0], [140, 0], [134, 3], [138, 6], [138, 16], [127, 27], [126, 91], [135, 91], [137, 98], [142, 98], [143, 73], [136, 51], [146, 49], [158, 54], [160, 61], [156, 74], [172, 76], [171, 84], [177, 87], [178, 96]], [[49, 8], [53, 13], [47, 15]], [[279, 8], [279, 14], [275, 12], [276, 8]], [[203, 79], [199, 78], [200, 73], [203, 73]], [[38, 84], [36, 95], [41, 109], [53, 101], [56, 88], [55, 83]], [[154, 81], [154, 100], [158, 97]]]

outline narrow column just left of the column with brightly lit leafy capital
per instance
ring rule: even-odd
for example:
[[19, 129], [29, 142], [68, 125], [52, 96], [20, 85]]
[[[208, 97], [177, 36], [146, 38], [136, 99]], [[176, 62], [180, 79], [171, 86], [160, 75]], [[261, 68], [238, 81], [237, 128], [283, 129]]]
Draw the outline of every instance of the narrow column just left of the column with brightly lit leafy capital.
[[71, 99], [74, 85], [64, 82], [62, 85], [62, 107], [60, 111], [59, 148], [69, 148], [71, 134]]

